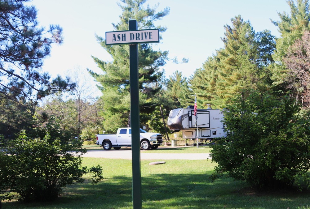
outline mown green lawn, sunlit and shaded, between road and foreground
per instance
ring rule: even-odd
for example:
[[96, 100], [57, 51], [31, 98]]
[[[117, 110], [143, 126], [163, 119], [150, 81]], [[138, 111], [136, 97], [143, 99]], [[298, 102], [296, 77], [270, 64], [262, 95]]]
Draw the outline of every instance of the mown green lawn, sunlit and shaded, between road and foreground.
[[[224, 178], [211, 183], [210, 160], [141, 161], [143, 208], [310, 208], [309, 192], [295, 189], [257, 192], [242, 181]], [[68, 186], [50, 203], [3, 203], [5, 208], [133, 208], [131, 160], [84, 158], [84, 165], [100, 164], [104, 181]]]

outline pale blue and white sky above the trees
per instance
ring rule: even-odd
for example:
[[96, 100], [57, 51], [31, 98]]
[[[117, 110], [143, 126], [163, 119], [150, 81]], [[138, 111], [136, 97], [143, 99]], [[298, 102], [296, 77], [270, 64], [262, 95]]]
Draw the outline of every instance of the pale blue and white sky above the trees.
[[[44, 61], [43, 71], [56, 75], [69, 75], [68, 70], [86, 68], [102, 73], [91, 56], [103, 61], [112, 61], [111, 56], [100, 46], [95, 34], [105, 38], [105, 32], [113, 31], [112, 23], [120, 21], [119, 0], [33, 0], [30, 4], [38, 9], [38, 21], [48, 28], [59, 24], [63, 28], [63, 44], [53, 45], [51, 55]], [[170, 14], [156, 21], [155, 25], [166, 26], [160, 34], [160, 43], [153, 49], [169, 51], [169, 58], [188, 58], [188, 63], [174, 64], [167, 61], [163, 69], [168, 78], [176, 70], [190, 78], [194, 71], [224, 46], [224, 25], [231, 25], [231, 18], [241, 15], [249, 20], [255, 32], [270, 30], [279, 37], [277, 27], [271, 22], [279, 20], [278, 12], [290, 13], [285, 0], [148, 0], [144, 4], [157, 11], [170, 7]], [[87, 74], [85, 74], [87, 76]], [[95, 86], [95, 82], [93, 82]], [[99, 90], [97, 94], [100, 95]]]

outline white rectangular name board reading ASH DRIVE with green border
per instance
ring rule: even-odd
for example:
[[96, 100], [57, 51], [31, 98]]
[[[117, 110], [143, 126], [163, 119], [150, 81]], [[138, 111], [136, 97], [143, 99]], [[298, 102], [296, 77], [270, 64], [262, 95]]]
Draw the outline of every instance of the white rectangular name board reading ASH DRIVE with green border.
[[130, 30], [105, 32], [105, 44], [159, 43], [159, 30]]

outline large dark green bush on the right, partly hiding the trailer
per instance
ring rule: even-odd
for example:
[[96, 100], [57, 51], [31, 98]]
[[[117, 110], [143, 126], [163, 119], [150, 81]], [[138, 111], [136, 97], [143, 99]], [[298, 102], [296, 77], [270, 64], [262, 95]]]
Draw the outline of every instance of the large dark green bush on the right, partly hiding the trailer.
[[218, 163], [212, 180], [224, 173], [264, 189], [310, 186], [310, 117], [293, 99], [252, 92], [224, 111], [226, 139], [211, 151]]

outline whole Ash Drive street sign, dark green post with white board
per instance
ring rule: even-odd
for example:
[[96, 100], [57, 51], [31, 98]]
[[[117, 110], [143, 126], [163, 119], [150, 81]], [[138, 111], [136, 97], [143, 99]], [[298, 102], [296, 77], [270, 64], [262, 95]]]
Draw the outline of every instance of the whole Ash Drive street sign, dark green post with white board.
[[105, 33], [106, 45], [129, 44], [130, 62], [130, 111], [132, 152], [132, 199], [135, 209], [142, 208], [140, 165], [140, 110], [139, 110], [139, 43], [158, 43], [159, 30], [138, 30], [137, 20], [129, 20], [129, 31]]

